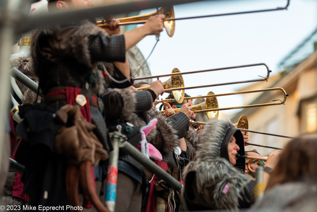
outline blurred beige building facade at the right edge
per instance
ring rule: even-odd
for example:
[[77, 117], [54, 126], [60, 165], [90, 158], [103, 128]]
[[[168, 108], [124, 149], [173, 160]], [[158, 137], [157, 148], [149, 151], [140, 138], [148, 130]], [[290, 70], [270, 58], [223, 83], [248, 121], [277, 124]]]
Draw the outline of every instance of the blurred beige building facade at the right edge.
[[[256, 90], [282, 87], [289, 95], [285, 105], [246, 108], [231, 117], [236, 123], [244, 114], [249, 121], [249, 129], [289, 135], [317, 135], [317, 33], [314, 31], [294, 49], [280, 66], [283, 72], [270, 77], [268, 82], [258, 82], [241, 90]], [[280, 91], [244, 94], [245, 104], [269, 103], [282, 99]], [[275, 147], [284, 147], [288, 138], [249, 133], [249, 142]], [[248, 146], [246, 150], [256, 149], [267, 156], [273, 149]]]

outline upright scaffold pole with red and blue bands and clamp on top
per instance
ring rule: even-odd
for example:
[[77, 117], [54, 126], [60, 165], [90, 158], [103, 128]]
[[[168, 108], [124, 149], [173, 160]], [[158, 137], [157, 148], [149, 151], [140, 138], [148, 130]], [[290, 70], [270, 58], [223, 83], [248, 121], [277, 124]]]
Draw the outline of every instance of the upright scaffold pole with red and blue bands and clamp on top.
[[109, 154], [109, 165], [107, 172], [106, 206], [110, 211], [114, 211], [116, 206], [117, 180], [118, 180], [118, 161], [119, 161], [119, 142], [127, 140], [121, 133], [122, 126], [117, 125], [118, 131], [109, 133], [113, 150]]

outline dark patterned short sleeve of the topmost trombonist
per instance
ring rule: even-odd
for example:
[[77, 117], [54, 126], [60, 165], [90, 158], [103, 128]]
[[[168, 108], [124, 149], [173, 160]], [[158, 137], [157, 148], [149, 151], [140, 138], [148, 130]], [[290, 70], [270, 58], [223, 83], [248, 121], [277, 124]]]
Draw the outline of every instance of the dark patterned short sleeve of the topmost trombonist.
[[97, 35], [89, 38], [88, 45], [92, 62], [124, 62], [126, 59], [124, 35], [112, 37]]

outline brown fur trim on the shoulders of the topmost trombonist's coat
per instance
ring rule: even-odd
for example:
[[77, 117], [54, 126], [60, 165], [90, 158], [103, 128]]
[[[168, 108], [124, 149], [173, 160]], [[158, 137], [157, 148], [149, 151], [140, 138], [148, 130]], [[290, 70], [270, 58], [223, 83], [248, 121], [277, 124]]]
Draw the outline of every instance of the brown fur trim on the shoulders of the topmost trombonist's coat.
[[[88, 41], [92, 36], [109, 35], [105, 30], [102, 30], [100, 27], [96, 26], [94, 23], [89, 21], [82, 21], [80, 23], [73, 24], [72, 26], [74, 26], [74, 29], [70, 29], [69, 33], [72, 34], [68, 42], [64, 42], [64, 44], [67, 45], [64, 48], [66, 48], [68, 51], [71, 51], [69, 52], [69, 54], [71, 54], [72, 57], [75, 58], [76, 63], [82, 64], [84, 67], [87, 67], [90, 70], [90, 72], [94, 75], [93, 91], [96, 92], [98, 95], [101, 95], [105, 92], [105, 88], [109, 87], [111, 83], [111, 80], [107, 77], [105, 78], [102, 74], [104, 69], [102, 63], [105, 65], [107, 72], [109, 72], [111, 76], [116, 77], [114, 76], [114, 66], [113, 63], [91, 62]], [[61, 31], [61, 35], [56, 35], [56, 32], [59, 31]], [[32, 58], [36, 58], [34, 60], [33, 67], [35, 73], [38, 76], [40, 76], [39, 73], [41, 71], [39, 70], [41, 68], [39, 67], [41, 61], [38, 61], [38, 58], [42, 57], [40, 57], [42, 53], [37, 47], [39, 39], [42, 37], [51, 37], [53, 35], [56, 35], [57, 38], [59, 38], [59, 36], [62, 38], [62, 33], [64, 33], [64, 31], [62, 31], [62, 28], [59, 26], [39, 28], [34, 31], [31, 41], [31, 53]], [[67, 33], [68, 32], [66, 32], [66, 34]], [[69, 34], [67, 36], [69, 36]], [[53, 63], [60, 63], [58, 60], [55, 60], [54, 57], [52, 57], [51, 59], [49, 60]]]

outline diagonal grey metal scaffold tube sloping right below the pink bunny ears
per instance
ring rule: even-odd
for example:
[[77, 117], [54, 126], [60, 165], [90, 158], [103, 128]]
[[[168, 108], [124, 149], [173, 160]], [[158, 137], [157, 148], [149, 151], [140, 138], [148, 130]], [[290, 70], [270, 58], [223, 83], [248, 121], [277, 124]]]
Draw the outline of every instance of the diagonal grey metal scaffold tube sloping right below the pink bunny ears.
[[146, 158], [139, 150], [133, 147], [129, 142], [124, 141], [123, 143], [119, 144], [119, 147], [124, 150], [127, 154], [131, 155], [135, 160], [149, 169], [152, 173], [156, 174], [159, 178], [164, 180], [168, 185], [172, 188], [176, 189], [177, 191], [182, 190], [183, 185], [178, 182], [175, 178], [171, 175], [167, 174], [162, 168], [156, 165], [153, 161]]

